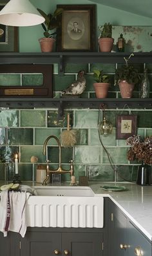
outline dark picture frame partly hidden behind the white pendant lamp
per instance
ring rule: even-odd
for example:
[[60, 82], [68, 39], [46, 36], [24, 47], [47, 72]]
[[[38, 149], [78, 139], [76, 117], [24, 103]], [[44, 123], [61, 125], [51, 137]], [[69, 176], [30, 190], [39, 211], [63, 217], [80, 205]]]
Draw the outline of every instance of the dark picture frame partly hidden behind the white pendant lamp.
[[[0, 0], [0, 10], [8, 3], [7, 0]], [[0, 52], [18, 51], [18, 29], [17, 27], [0, 24]]]

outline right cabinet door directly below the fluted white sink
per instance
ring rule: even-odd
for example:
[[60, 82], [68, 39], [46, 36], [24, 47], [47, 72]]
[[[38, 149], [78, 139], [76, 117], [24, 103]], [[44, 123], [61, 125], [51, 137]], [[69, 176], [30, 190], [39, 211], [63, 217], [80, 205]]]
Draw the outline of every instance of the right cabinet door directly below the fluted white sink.
[[101, 233], [62, 233], [62, 255], [102, 256]]

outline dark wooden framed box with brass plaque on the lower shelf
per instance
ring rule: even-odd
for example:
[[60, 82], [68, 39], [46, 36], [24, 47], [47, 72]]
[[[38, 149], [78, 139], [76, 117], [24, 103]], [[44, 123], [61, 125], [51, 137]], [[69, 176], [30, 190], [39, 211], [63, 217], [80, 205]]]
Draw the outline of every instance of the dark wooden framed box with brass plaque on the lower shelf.
[[53, 65], [1, 64], [0, 97], [53, 97]]

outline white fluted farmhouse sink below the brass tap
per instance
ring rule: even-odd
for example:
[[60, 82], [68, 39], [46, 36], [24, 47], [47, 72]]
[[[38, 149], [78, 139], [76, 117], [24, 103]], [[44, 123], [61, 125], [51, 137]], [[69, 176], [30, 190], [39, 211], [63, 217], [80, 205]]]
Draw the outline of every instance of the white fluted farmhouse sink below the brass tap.
[[33, 187], [26, 204], [30, 227], [103, 227], [104, 198], [90, 187]]

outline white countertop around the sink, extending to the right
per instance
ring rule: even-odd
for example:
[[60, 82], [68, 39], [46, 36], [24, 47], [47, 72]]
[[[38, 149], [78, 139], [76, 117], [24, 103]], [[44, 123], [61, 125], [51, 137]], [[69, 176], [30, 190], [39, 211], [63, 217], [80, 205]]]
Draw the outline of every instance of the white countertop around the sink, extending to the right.
[[[0, 185], [5, 182], [1, 181]], [[8, 182], [10, 183], [10, 182]], [[40, 185], [32, 181], [24, 182], [26, 185]], [[62, 183], [68, 185], [69, 183]], [[152, 186], [140, 186], [136, 183], [89, 183], [96, 196], [109, 196], [116, 205], [128, 216], [132, 222], [152, 241]], [[125, 186], [126, 191], [104, 191], [100, 186], [119, 185]]]

